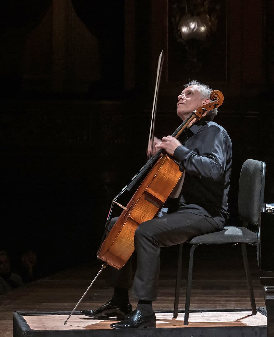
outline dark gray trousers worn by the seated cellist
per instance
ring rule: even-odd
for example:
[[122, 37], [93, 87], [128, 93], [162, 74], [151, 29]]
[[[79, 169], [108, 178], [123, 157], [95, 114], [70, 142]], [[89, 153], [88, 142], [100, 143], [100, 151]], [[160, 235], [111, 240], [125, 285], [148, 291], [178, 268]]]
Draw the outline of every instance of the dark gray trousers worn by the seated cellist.
[[[117, 219], [111, 219], [107, 233]], [[133, 281], [132, 296], [138, 300], [157, 300], [161, 247], [177, 245], [197, 235], [218, 230], [218, 224], [212, 218], [185, 211], [165, 214], [141, 223], [134, 236], [137, 269]], [[129, 289], [131, 270], [132, 257], [120, 270], [109, 266], [107, 283], [111, 286]]]

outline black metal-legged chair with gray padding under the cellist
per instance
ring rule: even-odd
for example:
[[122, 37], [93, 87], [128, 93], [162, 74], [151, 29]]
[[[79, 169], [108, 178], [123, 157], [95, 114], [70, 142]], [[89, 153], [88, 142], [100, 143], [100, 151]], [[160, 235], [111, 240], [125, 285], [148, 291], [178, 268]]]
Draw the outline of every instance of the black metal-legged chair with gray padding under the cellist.
[[[253, 314], [257, 313], [248, 258], [246, 253], [246, 244], [256, 245], [257, 239], [259, 238], [258, 230], [261, 223], [261, 211], [264, 203], [265, 168], [266, 164], [264, 162], [252, 159], [246, 160], [242, 166], [239, 180], [238, 208], [239, 208], [239, 217], [243, 221], [243, 226], [241, 227], [225, 226], [224, 229], [222, 229], [219, 232], [199, 235], [187, 241], [191, 245], [191, 248], [189, 254], [184, 325], [188, 325], [188, 318], [189, 318], [194, 250], [200, 244], [206, 245], [213, 243], [241, 244], [251, 309]], [[257, 229], [257, 231], [248, 229], [247, 226], [249, 224], [253, 225], [253, 229]], [[183, 255], [182, 252], [183, 252], [183, 244], [181, 244], [179, 248], [179, 261], [176, 277], [174, 311], [173, 311], [174, 317], [178, 316], [182, 255]]]

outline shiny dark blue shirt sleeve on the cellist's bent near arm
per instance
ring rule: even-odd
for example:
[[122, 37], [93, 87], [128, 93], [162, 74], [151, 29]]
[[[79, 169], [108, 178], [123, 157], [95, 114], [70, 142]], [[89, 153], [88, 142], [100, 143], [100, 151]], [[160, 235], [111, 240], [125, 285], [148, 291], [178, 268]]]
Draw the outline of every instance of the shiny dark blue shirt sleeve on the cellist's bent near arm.
[[181, 171], [186, 170], [188, 174], [219, 181], [226, 163], [223, 134], [219, 130], [209, 132], [198, 151], [199, 153], [180, 145], [175, 149], [173, 157], [179, 161]]

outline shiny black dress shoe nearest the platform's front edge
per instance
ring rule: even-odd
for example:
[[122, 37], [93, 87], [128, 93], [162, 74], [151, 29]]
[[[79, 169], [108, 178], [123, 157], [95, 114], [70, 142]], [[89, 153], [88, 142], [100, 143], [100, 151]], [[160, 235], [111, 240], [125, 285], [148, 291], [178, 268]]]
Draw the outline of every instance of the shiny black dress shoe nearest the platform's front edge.
[[143, 316], [139, 310], [133, 310], [126, 319], [117, 323], [112, 323], [110, 327], [113, 329], [155, 328], [155, 313], [149, 316]]

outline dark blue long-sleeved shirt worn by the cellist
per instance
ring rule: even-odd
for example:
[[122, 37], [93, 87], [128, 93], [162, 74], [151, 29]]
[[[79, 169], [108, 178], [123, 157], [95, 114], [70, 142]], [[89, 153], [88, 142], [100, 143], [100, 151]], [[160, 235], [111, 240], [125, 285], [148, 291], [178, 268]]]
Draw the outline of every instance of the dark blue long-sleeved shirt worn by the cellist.
[[223, 228], [229, 216], [232, 162], [232, 145], [225, 129], [201, 119], [186, 130], [185, 142], [173, 156], [180, 170], [186, 171], [178, 211], [210, 216]]

